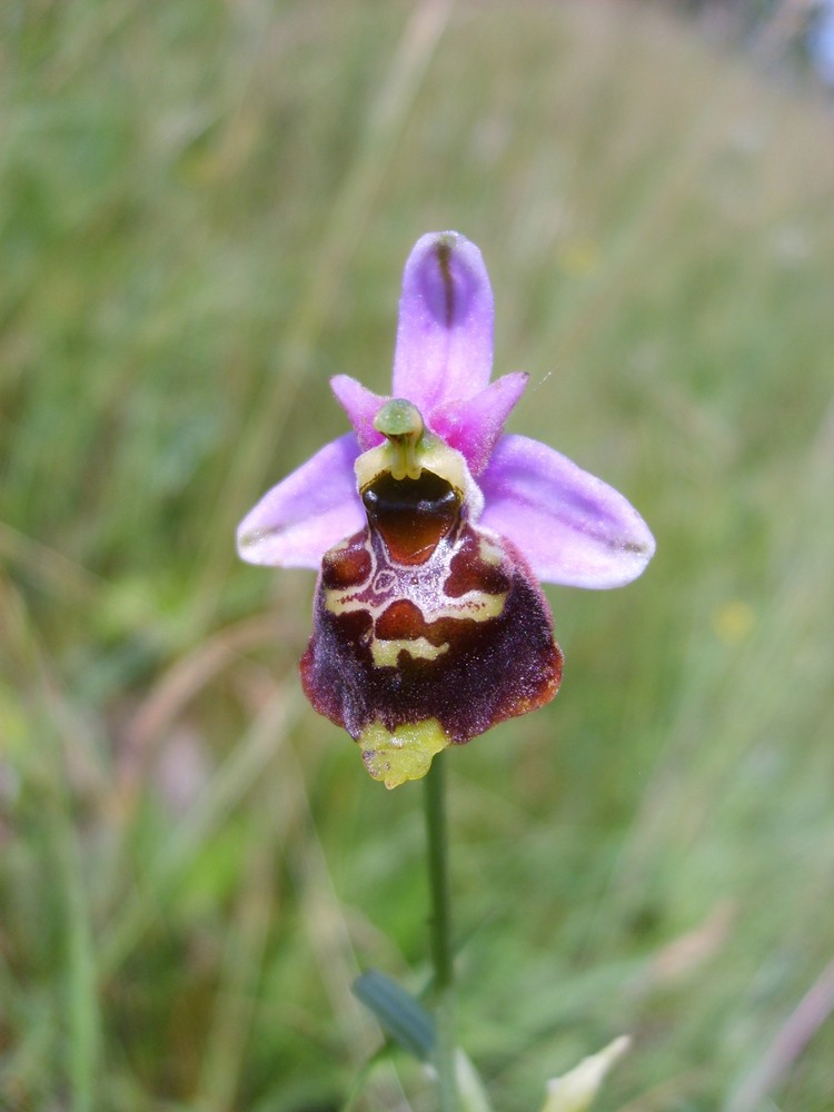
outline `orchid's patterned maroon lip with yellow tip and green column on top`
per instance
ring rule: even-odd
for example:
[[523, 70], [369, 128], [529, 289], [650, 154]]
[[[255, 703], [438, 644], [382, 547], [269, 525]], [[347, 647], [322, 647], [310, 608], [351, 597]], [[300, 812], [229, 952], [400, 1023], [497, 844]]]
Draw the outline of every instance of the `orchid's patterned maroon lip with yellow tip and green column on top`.
[[475, 524], [480, 494], [460, 453], [401, 399], [374, 426], [386, 443], [356, 460], [367, 524], [325, 553], [301, 681], [395, 787], [549, 702], [562, 653], [526, 559]]

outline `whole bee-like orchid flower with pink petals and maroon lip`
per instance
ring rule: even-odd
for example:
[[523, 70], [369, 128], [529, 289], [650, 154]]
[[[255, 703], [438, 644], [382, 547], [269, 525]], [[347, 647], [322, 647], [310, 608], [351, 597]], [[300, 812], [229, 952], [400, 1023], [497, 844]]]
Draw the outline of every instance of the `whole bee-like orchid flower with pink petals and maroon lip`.
[[554, 697], [562, 652], [540, 582], [618, 587], [654, 553], [623, 495], [504, 434], [527, 376], [490, 384], [493, 318], [477, 247], [453, 231], [419, 239], [391, 396], [337, 375], [353, 431], [238, 529], [251, 564], [319, 569], [304, 689], [388, 787]]

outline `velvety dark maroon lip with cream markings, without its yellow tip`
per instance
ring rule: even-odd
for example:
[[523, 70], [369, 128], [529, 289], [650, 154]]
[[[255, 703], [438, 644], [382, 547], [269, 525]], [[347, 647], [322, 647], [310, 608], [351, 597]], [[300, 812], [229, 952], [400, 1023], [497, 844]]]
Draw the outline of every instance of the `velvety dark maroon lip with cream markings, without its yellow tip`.
[[[427, 489], [411, 502], [426, 502]], [[406, 517], [416, 494], [397, 494]], [[390, 499], [378, 504], [383, 517], [396, 516]], [[301, 659], [320, 714], [355, 739], [375, 724], [393, 733], [437, 719], [449, 743], [464, 744], [556, 695], [562, 652], [550, 610], [512, 545], [458, 510], [451, 525], [444, 516], [443, 539], [417, 570], [394, 558], [375, 523], [369, 512], [365, 529], [325, 555]]]

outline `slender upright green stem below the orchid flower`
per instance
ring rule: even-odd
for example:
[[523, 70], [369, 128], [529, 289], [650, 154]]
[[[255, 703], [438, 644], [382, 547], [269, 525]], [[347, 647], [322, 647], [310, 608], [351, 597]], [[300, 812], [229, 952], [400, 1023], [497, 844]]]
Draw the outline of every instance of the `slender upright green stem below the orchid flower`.
[[428, 883], [431, 892], [431, 962], [435, 970], [435, 1069], [438, 1112], [457, 1112], [455, 1073], [455, 966], [451, 955], [451, 913], [446, 833], [444, 754], [438, 753], [425, 778]]

